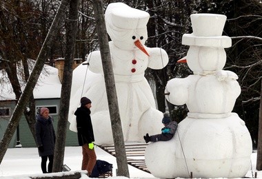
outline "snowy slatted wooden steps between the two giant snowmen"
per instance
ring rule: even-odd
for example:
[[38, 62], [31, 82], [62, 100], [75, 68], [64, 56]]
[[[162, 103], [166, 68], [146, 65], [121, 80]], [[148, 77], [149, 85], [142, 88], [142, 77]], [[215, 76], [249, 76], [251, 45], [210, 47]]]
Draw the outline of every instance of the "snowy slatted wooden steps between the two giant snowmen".
[[[128, 165], [132, 165], [137, 169], [150, 173], [145, 165], [145, 148], [146, 143], [125, 143], [125, 153], [128, 160]], [[99, 145], [101, 149], [116, 157], [114, 145]]]

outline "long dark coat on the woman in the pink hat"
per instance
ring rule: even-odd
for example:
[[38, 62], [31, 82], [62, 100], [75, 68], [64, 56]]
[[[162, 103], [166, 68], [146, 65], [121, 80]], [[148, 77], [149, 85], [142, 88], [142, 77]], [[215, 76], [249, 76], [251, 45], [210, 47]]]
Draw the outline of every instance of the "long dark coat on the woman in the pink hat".
[[35, 123], [35, 136], [37, 139], [37, 147], [43, 146], [43, 151], [39, 151], [39, 156], [54, 155], [54, 143], [56, 136], [52, 124], [52, 117], [43, 118], [41, 114], [37, 114], [37, 122]]

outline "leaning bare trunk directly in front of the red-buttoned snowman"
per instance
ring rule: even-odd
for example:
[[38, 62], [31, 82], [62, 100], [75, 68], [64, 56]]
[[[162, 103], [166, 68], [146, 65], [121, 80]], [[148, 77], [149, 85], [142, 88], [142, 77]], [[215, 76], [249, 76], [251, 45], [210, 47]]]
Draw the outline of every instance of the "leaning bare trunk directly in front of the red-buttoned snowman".
[[125, 176], [129, 178], [128, 161], [125, 154], [125, 143], [123, 140], [123, 131], [117, 101], [117, 90], [114, 83], [114, 72], [108, 45], [108, 34], [105, 30], [105, 17], [103, 14], [102, 1], [93, 1], [93, 6], [97, 23], [97, 33], [99, 36], [103, 74], [105, 76], [105, 88], [108, 96], [108, 107], [114, 138], [114, 148], [117, 156], [117, 176]]

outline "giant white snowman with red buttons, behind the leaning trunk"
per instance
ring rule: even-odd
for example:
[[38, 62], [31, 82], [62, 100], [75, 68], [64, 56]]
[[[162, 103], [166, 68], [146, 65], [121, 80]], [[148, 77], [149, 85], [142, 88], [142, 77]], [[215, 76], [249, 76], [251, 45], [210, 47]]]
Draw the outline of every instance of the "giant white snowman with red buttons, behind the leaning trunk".
[[[110, 35], [110, 54], [117, 89], [119, 113], [126, 141], [143, 142], [146, 133], [161, 129], [163, 113], [156, 109], [152, 89], [145, 79], [145, 70], [161, 69], [168, 63], [168, 54], [161, 48], [148, 48], [148, 12], [130, 8], [124, 3], [110, 3], [105, 10], [106, 30]], [[113, 144], [108, 99], [99, 51], [88, 54], [87, 65], [73, 72], [70, 98], [70, 129], [77, 131], [74, 111], [81, 96], [92, 101], [91, 118], [95, 143]], [[85, 74], [86, 73], [86, 74]]]

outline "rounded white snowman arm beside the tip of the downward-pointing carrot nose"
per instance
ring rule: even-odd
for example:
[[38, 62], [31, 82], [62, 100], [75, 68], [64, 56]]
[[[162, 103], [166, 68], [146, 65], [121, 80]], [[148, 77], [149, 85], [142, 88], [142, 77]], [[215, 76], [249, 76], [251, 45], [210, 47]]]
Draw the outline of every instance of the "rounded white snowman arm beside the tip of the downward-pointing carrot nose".
[[162, 48], [147, 48], [148, 54], [148, 67], [152, 69], [162, 69], [168, 65], [168, 54]]

